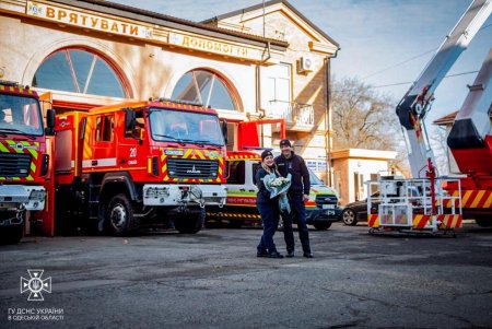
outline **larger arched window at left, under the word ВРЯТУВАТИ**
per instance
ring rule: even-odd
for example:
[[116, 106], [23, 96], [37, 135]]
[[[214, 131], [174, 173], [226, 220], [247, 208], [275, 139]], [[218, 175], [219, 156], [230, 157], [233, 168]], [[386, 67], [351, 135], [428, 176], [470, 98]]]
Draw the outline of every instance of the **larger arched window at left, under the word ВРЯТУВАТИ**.
[[101, 56], [83, 49], [62, 49], [48, 56], [34, 74], [33, 86], [126, 98], [116, 69]]

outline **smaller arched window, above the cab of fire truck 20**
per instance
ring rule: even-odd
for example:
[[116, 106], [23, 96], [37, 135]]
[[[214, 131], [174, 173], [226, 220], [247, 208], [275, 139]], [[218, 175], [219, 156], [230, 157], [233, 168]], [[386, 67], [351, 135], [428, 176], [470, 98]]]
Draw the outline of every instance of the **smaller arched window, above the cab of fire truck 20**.
[[200, 103], [203, 106], [237, 110], [237, 102], [225, 81], [218, 74], [204, 70], [189, 71], [177, 82], [173, 99]]

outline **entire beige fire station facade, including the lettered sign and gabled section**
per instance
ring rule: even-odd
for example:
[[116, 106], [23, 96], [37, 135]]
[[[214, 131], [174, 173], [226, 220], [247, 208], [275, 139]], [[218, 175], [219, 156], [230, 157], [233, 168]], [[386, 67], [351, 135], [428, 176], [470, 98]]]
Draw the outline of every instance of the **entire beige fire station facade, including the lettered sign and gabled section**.
[[[47, 14], [48, 10], [52, 15]], [[315, 173], [330, 181], [327, 73], [330, 58], [339, 46], [292, 5], [285, 1], [269, 1], [265, 11], [261, 5], [255, 5], [242, 10], [241, 14], [230, 13], [206, 22], [208, 25], [190, 27], [185, 22], [184, 30], [179, 30], [184, 26], [181, 23], [169, 25], [164, 22], [165, 17], [156, 21], [142, 13], [115, 12], [118, 9], [107, 9], [104, 2], [0, 1], [0, 79], [31, 85], [43, 61], [67, 47], [87, 49], [109, 61], [120, 73], [129, 91], [128, 97], [134, 99], [171, 98], [186, 72], [203, 69], [219, 74], [237, 102], [237, 111], [219, 109], [221, 117], [239, 122], [279, 117], [273, 99], [268, 96], [268, 81], [269, 71], [277, 64], [284, 64], [290, 68], [291, 91], [284, 110], [293, 110], [286, 137]], [[72, 15], [77, 20], [72, 21]], [[82, 22], [82, 16], [87, 19]], [[106, 20], [109, 27], [95, 26], [91, 17], [99, 22]], [[112, 22], [134, 25], [150, 33], [129, 36], [112, 31]], [[231, 30], [239, 34], [231, 35]], [[256, 37], [251, 39], [251, 35]], [[187, 37], [188, 42], [184, 42]], [[208, 47], [209, 43], [213, 46]], [[221, 45], [222, 50], [216, 51], [216, 45]], [[232, 48], [239, 50], [237, 54], [225, 50]], [[309, 59], [308, 70], [300, 70], [303, 59]], [[51, 92], [52, 99], [67, 103], [105, 105], [121, 101], [42, 89], [38, 92]], [[265, 146], [277, 149], [279, 127], [263, 126], [261, 140]]]

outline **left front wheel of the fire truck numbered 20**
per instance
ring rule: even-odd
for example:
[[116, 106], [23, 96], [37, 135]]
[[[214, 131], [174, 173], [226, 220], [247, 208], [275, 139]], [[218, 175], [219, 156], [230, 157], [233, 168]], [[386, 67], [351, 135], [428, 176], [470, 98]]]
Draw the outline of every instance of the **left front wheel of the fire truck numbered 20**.
[[109, 201], [106, 223], [115, 235], [128, 235], [136, 228], [133, 207], [126, 195], [117, 195]]

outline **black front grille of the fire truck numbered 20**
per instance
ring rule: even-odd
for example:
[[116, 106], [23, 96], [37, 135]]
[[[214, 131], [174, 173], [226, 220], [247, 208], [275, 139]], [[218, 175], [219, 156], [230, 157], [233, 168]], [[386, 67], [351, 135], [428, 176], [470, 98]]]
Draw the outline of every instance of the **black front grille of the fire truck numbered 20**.
[[214, 179], [218, 176], [218, 161], [184, 158], [167, 160], [167, 173], [171, 178]]

